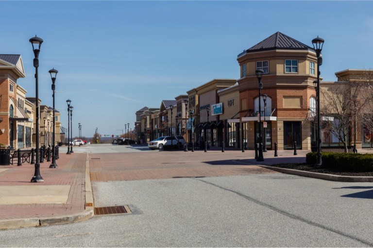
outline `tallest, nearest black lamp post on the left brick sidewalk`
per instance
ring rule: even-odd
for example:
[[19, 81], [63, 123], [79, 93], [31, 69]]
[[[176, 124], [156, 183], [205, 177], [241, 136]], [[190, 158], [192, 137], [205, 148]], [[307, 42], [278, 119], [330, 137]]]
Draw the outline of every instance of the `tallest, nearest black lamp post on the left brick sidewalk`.
[[[35, 37], [31, 38], [30, 43], [33, 45], [33, 51], [34, 51], [34, 67], [35, 67], [35, 102], [36, 102], [36, 162], [35, 162], [35, 171], [34, 176], [31, 179], [32, 183], [41, 183], [44, 182], [44, 179], [40, 175], [40, 163], [39, 163], [39, 76], [38, 76], [38, 70], [39, 67], [39, 53], [40, 53], [40, 47], [43, 43], [43, 39], [39, 38], [35, 35]], [[35, 45], [35, 47], [34, 47]], [[38, 47], [37, 47], [38, 46]]]

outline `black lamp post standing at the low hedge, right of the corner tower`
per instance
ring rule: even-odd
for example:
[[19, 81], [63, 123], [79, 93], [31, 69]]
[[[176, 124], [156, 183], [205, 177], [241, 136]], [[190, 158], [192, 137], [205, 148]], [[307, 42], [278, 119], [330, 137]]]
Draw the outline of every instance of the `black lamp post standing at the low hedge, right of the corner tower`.
[[317, 57], [317, 91], [316, 91], [316, 100], [317, 100], [317, 162], [316, 166], [322, 166], [321, 158], [321, 139], [320, 139], [320, 66], [322, 65], [321, 51], [324, 44], [324, 39], [317, 36], [317, 38], [312, 40], [313, 49], [315, 49]]

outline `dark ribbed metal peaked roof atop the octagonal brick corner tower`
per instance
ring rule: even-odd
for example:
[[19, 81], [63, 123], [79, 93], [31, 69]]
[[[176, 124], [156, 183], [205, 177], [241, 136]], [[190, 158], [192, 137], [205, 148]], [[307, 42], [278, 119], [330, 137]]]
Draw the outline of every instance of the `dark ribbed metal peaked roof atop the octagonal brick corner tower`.
[[266, 51], [273, 49], [314, 50], [312, 47], [309, 47], [302, 42], [299, 42], [291, 38], [290, 36], [283, 34], [282, 32], [276, 32], [270, 37], [262, 40], [255, 46], [244, 50], [242, 53], [238, 54], [237, 57], [240, 57], [249, 52]]

